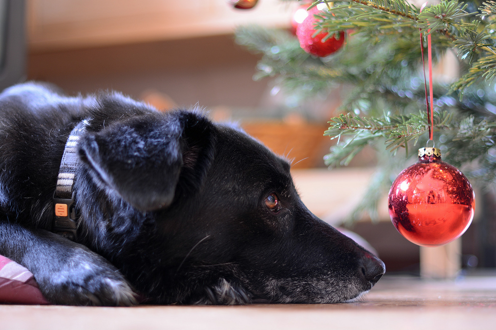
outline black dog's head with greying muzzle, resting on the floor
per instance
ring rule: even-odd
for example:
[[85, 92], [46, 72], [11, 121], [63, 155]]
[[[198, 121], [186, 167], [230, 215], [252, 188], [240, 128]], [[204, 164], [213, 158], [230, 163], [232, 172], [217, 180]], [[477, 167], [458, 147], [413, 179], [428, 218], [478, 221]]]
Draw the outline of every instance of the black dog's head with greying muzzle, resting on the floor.
[[239, 129], [145, 113], [87, 134], [79, 152], [121, 219], [106, 234], [120, 252], [96, 248], [153, 301], [343, 302], [384, 273], [305, 207], [286, 160]]

